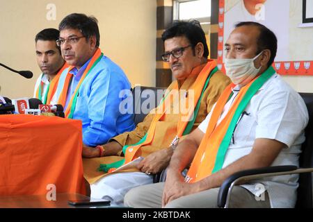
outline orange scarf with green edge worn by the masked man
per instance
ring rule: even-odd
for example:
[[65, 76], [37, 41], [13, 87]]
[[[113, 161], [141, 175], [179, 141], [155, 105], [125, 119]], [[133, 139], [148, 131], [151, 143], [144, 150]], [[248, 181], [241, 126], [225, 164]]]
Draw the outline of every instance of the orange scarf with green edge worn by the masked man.
[[212, 111], [207, 132], [193, 158], [185, 179], [186, 182], [197, 182], [222, 169], [227, 148], [230, 145], [230, 139], [240, 115], [252, 96], [273, 74], [275, 74], [275, 70], [269, 67], [264, 74], [252, 80], [248, 85], [241, 87], [225, 118], [216, 126], [223, 108], [232, 94], [232, 87], [235, 86], [234, 83], [228, 85]]

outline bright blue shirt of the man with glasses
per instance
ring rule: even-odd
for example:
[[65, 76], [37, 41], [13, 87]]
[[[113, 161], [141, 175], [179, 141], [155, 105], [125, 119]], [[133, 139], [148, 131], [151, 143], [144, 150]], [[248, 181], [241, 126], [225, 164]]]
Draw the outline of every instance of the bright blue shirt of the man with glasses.
[[[88, 60], [79, 70], [73, 71], [70, 96], [79, 82], [83, 70], [86, 69]], [[69, 69], [61, 74], [57, 96], [60, 96]], [[79, 77], [80, 76], [80, 77]], [[120, 103], [127, 96], [120, 92], [131, 89], [131, 85], [124, 71], [106, 56], [93, 67], [81, 84], [73, 119], [81, 119], [83, 123], [83, 143], [87, 146], [105, 144], [111, 137], [134, 130], [134, 115], [122, 114], [119, 110]], [[70, 100], [67, 95], [67, 102]]]

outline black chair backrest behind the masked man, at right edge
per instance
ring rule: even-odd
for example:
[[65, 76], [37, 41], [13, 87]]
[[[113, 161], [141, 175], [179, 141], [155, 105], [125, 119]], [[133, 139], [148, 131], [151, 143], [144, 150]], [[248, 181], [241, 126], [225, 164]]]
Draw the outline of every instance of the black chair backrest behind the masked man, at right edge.
[[[313, 167], [313, 93], [300, 93], [309, 112], [309, 123], [305, 128], [305, 142], [300, 154], [300, 167]], [[296, 207], [312, 208], [312, 173], [300, 173]]]

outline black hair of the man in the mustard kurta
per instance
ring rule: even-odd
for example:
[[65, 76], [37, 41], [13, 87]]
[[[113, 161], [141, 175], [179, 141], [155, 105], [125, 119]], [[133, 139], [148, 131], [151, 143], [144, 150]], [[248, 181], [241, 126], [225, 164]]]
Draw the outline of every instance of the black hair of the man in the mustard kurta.
[[175, 20], [172, 22], [172, 25], [164, 31], [161, 36], [163, 42], [172, 37], [186, 37], [190, 42], [193, 53], [195, 54], [195, 46], [201, 42], [204, 46], [203, 57], [207, 58], [209, 56], [209, 48], [207, 46], [207, 40], [205, 38], [204, 31], [198, 22], [195, 19], [191, 19], [188, 22]]

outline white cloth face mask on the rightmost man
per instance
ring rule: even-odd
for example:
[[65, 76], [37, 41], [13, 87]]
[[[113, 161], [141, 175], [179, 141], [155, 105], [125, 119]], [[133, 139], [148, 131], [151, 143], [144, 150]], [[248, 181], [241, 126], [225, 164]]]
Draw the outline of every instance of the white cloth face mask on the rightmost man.
[[[259, 53], [261, 55], [262, 52]], [[255, 58], [225, 58], [225, 70], [226, 75], [230, 77], [230, 80], [236, 85], [246, 85], [257, 76], [259, 69], [255, 68]]]

